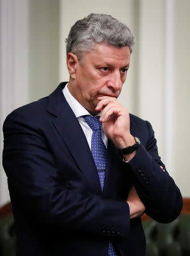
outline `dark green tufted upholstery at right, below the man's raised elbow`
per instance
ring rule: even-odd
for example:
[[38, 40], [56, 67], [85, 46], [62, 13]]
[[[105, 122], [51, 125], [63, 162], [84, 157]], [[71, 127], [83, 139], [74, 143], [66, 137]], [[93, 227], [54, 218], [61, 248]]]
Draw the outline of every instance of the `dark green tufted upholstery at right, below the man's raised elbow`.
[[153, 220], [143, 222], [146, 256], [189, 256], [190, 215], [181, 214], [169, 224]]

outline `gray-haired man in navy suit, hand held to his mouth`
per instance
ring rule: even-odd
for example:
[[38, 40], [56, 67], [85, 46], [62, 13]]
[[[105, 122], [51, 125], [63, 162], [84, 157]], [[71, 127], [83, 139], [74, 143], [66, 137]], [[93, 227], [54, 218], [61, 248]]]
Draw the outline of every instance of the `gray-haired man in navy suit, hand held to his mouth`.
[[134, 37], [90, 14], [66, 42], [69, 83], [3, 126], [17, 255], [145, 255], [141, 215], [170, 222], [182, 199], [150, 123], [117, 101]]

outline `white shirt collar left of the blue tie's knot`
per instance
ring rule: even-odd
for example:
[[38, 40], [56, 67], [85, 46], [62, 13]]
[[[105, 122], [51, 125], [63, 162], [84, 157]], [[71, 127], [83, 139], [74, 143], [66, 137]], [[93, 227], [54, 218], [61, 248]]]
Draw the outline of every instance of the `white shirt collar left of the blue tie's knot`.
[[[70, 108], [73, 110], [75, 116], [78, 118], [82, 115], [90, 115], [90, 113], [71, 95], [68, 89], [68, 84], [69, 83], [65, 85], [62, 92], [64, 93], [66, 101], [69, 104]], [[100, 116], [100, 113], [97, 115]]]

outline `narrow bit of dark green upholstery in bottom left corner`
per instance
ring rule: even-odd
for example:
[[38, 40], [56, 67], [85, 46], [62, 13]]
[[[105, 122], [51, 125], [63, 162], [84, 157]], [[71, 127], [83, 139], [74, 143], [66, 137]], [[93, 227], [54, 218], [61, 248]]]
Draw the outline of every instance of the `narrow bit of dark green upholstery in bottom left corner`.
[[15, 256], [16, 234], [12, 214], [0, 220], [0, 256]]

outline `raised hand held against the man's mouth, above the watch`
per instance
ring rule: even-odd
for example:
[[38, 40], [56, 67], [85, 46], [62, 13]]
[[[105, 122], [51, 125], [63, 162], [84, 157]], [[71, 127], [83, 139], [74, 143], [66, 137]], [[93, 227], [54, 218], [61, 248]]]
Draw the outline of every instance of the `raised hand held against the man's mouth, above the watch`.
[[98, 100], [96, 110], [101, 112], [100, 122], [105, 135], [120, 149], [132, 146], [135, 140], [130, 134], [128, 110], [115, 97], [103, 96]]

